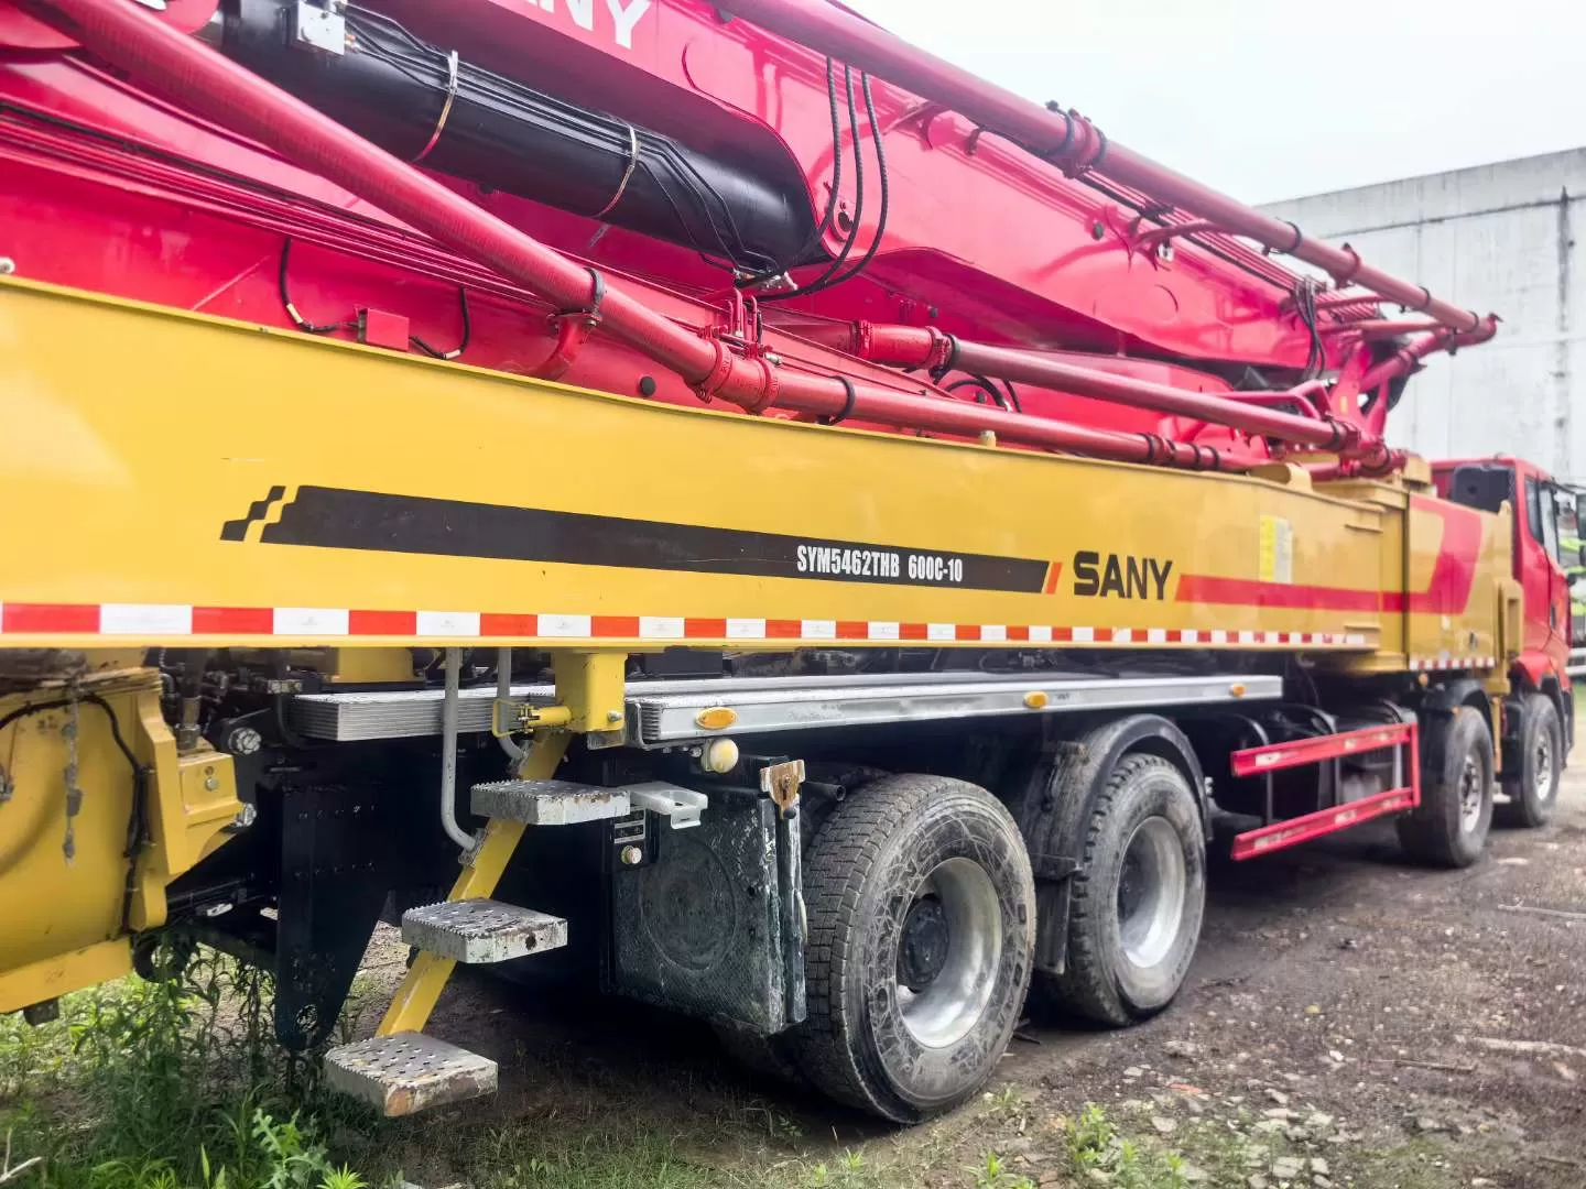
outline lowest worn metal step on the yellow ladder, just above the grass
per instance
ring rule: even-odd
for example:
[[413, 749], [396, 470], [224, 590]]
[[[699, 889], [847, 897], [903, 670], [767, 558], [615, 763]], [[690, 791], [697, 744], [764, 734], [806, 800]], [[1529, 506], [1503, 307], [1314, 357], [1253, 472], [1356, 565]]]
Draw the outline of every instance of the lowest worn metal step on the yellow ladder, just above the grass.
[[495, 1094], [496, 1064], [423, 1032], [398, 1032], [330, 1049], [325, 1080], [396, 1118]]

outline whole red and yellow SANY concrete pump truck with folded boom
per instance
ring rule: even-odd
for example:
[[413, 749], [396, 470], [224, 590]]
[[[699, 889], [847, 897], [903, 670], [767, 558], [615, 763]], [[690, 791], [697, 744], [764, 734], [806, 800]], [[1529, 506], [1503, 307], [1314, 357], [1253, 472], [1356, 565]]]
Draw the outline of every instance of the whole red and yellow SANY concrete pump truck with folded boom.
[[1573, 496], [1385, 444], [1494, 317], [842, 5], [0, 0], [0, 1011], [387, 919], [387, 1114], [517, 962], [914, 1121], [1553, 810]]

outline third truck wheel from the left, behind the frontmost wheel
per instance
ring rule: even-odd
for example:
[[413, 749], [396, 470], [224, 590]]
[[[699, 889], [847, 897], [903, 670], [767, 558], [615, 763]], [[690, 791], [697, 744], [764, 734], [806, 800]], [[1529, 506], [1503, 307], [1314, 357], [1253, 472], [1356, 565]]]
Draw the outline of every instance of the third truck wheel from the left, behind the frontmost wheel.
[[1421, 805], [1399, 818], [1399, 845], [1421, 862], [1469, 867], [1492, 826], [1492, 732], [1480, 710], [1456, 705], [1442, 736], [1429, 739]]

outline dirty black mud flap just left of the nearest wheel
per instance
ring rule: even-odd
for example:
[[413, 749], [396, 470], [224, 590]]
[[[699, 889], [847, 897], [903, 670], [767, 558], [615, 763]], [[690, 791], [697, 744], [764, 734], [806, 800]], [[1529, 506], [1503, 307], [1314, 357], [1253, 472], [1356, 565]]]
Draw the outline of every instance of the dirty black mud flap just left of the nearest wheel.
[[798, 812], [712, 788], [698, 826], [652, 816], [650, 839], [611, 875], [609, 989], [758, 1034], [804, 1019]]

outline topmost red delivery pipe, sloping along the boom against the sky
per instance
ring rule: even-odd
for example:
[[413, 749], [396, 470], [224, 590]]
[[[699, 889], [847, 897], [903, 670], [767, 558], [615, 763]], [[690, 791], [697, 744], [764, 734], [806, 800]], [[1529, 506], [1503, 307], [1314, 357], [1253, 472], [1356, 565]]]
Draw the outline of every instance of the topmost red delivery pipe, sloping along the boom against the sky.
[[1090, 120], [1077, 114], [1047, 111], [950, 62], [915, 49], [828, 0], [715, 0], [715, 6], [818, 54], [883, 78], [923, 100], [940, 103], [982, 128], [1026, 147], [1042, 160], [1071, 171], [1088, 170], [1104, 174], [1156, 201], [1170, 203], [1197, 219], [1216, 224], [1229, 235], [1247, 236], [1272, 250], [1316, 265], [1332, 274], [1340, 285], [1369, 289], [1456, 330], [1477, 330], [1484, 322], [1469, 309], [1439, 301], [1421, 285], [1399, 281], [1362, 263], [1348, 244], [1334, 247], [1321, 239], [1307, 239], [1294, 224], [1261, 214], [1107, 140]]

